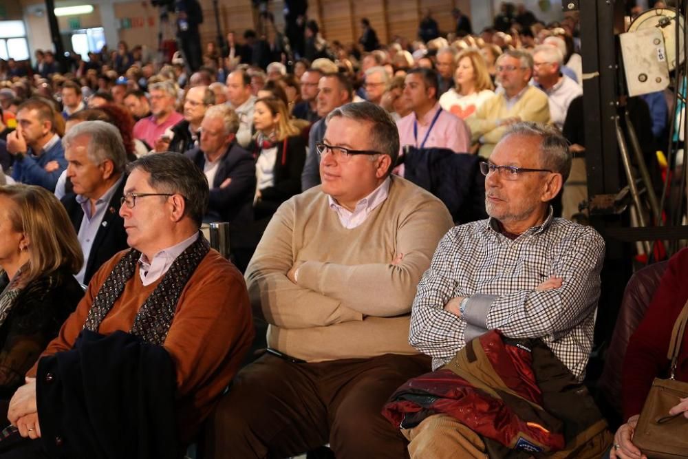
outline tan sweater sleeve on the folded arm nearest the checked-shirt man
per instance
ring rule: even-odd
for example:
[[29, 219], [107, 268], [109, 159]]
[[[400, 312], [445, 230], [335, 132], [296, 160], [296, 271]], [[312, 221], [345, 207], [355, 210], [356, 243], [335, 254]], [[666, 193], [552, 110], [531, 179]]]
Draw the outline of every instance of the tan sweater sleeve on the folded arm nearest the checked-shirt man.
[[299, 268], [299, 285], [340, 301], [343, 307], [365, 316], [394, 317], [411, 310], [416, 286], [430, 266], [440, 238], [453, 225], [451, 215], [439, 200], [409, 203], [400, 216], [390, 244], [403, 254], [399, 264], [343, 264], [306, 261]]

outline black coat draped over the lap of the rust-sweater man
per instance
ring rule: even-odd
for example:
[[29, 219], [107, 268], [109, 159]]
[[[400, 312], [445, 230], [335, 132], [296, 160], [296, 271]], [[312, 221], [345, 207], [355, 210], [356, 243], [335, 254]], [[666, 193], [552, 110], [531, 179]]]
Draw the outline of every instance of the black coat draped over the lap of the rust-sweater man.
[[36, 375], [42, 447], [51, 458], [179, 459], [175, 367], [133, 334], [84, 330]]

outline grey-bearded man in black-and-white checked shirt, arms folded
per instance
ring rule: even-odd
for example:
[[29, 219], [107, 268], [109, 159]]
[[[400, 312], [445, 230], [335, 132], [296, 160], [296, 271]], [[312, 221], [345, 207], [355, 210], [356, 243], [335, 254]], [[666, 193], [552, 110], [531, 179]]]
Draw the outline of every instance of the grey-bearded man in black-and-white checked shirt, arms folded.
[[[552, 217], [571, 165], [550, 127], [518, 123], [497, 143], [486, 174], [490, 218], [442, 238], [413, 301], [409, 342], [436, 369], [473, 338], [541, 338], [582, 381], [592, 348], [604, 241], [590, 226]], [[413, 457], [486, 457], [482, 440], [435, 414], [404, 431]], [[598, 456], [599, 457], [599, 456]]]

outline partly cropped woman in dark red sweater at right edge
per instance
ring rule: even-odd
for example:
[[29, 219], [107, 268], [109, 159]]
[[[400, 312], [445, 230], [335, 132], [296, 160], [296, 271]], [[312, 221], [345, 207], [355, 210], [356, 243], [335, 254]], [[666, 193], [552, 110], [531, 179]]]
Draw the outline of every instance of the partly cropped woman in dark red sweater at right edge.
[[[633, 433], [645, 398], [655, 377], [667, 378], [669, 337], [678, 314], [688, 300], [688, 248], [671, 259], [645, 317], [631, 337], [623, 361], [623, 418], [626, 423], [614, 435], [610, 456], [619, 459], [645, 457], [633, 443]], [[676, 380], [688, 382], [688, 333], [683, 336], [676, 365]], [[688, 418], [688, 398], [667, 413]], [[686, 431], [688, 436], [688, 431]]]

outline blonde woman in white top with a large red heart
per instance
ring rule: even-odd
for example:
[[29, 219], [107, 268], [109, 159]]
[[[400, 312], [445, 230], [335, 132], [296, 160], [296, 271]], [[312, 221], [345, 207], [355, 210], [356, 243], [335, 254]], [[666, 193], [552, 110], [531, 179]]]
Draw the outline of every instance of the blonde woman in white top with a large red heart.
[[454, 87], [442, 94], [440, 105], [465, 120], [495, 95], [492, 79], [484, 58], [475, 48], [463, 50], [456, 56]]

